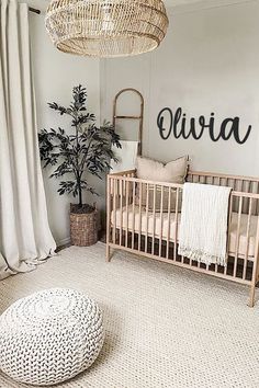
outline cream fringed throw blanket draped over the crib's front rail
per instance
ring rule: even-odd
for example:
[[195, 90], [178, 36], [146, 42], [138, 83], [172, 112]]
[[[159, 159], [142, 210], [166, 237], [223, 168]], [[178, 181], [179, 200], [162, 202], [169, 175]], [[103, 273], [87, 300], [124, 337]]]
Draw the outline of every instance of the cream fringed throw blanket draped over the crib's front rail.
[[230, 191], [209, 184], [184, 184], [179, 254], [207, 265], [226, 265]]

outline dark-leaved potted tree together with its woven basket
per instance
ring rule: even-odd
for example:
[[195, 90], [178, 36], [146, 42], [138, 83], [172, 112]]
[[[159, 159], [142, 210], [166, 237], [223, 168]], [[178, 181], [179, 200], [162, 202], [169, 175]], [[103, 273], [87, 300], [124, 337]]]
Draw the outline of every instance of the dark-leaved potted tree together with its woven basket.
[[71, 243], [91, 246], [98, 240], [98, 215], [95, 206], [83, 203], [83, 192], [98, 194], [88, 180], [90, 173], [99, 179], [109, 171], [110, 161], [116, 161], [111, 145], [121, 148], [120, 137], [113, 126], [104, 122], [100, 128], [95, 116], [87, 111], [87, 90], [82, 85], [72, 89], [72, 101], [68, 107], [57, 103], [48, 106], [71, 117], [72, 133], [58, 129], [43, 129], [38, 134], [43, 168], [55, 167], [50, 178], [61, 179], [59, 195], [72, 194], [78, 199], [70, 205]]

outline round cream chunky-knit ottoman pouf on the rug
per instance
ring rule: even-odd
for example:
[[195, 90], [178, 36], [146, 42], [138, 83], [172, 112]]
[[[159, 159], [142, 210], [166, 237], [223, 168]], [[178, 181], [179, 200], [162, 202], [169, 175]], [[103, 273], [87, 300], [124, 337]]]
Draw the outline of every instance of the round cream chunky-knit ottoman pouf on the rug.
[[0, 368], [37, 386], [88, 368], [104, 339], [102, 313], [86, 295], [54, 288], [15, 301], [0, 317]]

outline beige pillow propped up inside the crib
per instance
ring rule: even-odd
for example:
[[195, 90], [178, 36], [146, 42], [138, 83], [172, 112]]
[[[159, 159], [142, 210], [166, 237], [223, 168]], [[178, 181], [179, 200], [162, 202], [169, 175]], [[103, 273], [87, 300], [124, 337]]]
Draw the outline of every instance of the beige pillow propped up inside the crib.
[[[147, 158], [137, 158], [137, 178], [168, 183], [184, 183], [188, 172], [188, 157], [182, 157], [171, 162], [164, 164], [156, 160]], [[168, 212], [169, 207], [169, 189], [164, 189], [162, 204], [161, 204], [161, 189], [158, 186], [156, 190], [155, 212]], [[136, 195], [136, 204], [139, 205], [139, 187]], [[170, 212], [176, 212], [177, 194], [171, 189]], [[154, 186], [148, 186], [148, 204], [147, 204], [147, 185], [142, 186], [142, 206], [149, 212], [154, 210]], [[181, 195], [179, 195], [178, 210], [181, 209]]]

